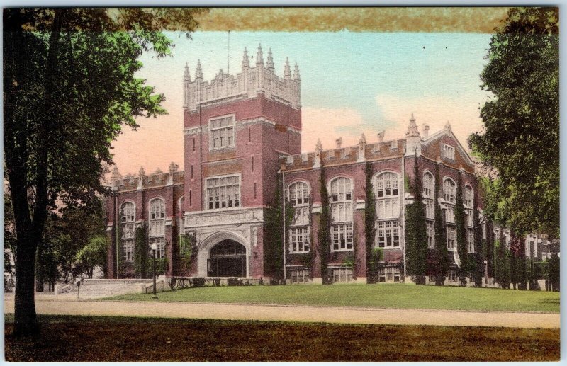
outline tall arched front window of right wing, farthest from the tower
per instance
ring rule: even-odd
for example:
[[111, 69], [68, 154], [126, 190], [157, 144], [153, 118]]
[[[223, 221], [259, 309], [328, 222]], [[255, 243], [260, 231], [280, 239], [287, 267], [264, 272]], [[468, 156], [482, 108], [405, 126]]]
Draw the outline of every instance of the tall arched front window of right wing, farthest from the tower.
[[376, 177], [376, 218], [379, 248], [400, 247], [400, 192], [398, 174], [386, 171]]

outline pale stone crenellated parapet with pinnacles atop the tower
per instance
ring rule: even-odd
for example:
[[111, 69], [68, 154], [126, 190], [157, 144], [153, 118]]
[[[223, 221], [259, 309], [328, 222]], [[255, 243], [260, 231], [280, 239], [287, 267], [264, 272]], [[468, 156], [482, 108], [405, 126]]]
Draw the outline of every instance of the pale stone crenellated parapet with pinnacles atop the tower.
[[268, 52], [267, 62], [264, 63], [262, 46], [260, 46], [258, 47], [255, 65], [255, 67], [250, 67], [248, 52], [245, 49], [242, 57], [242, 72], [236, 75], [225, 73], [220, 69], [212, 80], [203, 81], [203, 70], [199, 61], [195, 79], [192, 81], [189, 66], [186, 66], [183, 81], [183, 108], [192, 111], [201, 105], [218, 101], [254, 98], [258, 93], [264, 93], [266, 98], [289, 103], [292, 108], [301, 108], [301, 80], [297, 64], [292, 77], [286, 59], [283, 77], [277, 76], [271, 50]]

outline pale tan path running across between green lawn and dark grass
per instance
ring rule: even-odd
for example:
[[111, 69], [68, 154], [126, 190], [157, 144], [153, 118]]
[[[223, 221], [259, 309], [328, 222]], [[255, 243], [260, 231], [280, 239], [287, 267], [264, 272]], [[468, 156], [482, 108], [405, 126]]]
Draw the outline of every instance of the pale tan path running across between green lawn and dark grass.
[[[370, 309], [258, 304], [187, 302], [90, 302], [66, 297], [38, 297], [38, 314], [157, 316], [167, 318], [320, 321], [326, 323], [433, 326], [504, 326], [559, 328], [559, 314], [501, 311]], [[13, 297], [4, 299], [4, 313], [13, 313]]]

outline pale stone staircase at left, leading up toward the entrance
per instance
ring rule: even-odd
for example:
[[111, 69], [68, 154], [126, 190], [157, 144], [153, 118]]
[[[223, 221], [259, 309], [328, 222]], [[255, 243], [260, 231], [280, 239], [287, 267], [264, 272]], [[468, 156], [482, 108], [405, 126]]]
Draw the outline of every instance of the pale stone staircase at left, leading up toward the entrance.
[[[101, 299], [120, 294], [136, 294], [142, 292], [142, 285], [150, 285], [152, 279], [124, 280], [91, 280], [85, 279], [79, 286], [79, 299]], [[77, 292], [77, 287], [73, 289]], [[145, 292], [145, 290], [144, 290]]]

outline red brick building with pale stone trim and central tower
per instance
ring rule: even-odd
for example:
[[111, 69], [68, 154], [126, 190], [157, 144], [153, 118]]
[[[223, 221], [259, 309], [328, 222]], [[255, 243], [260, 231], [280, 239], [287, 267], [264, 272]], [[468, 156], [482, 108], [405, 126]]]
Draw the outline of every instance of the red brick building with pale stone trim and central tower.
[[[108, 200], [108, 275], [135, 273], [136, 236], [143, 246], [157, 246], [168, 276], [270, 277], [264, 263], [266, 212], [274, 204], [276, 185], [294, 206], [295, 217], [283, 229], [286, 237], [285, 273], [293, 282], [366, 282], [366, 246], [381, 248], [378, 277], [383, 282], [404, 280], [405, 207], [413, 197], [405, 178], [414, 181], [417, 159], [426, 206], [427, 245], [434, 248], [434, 205], [444, 210], [451, 269], [456, 281], [460, 265], [456, 254], [456, 185], [461, 179], [466, 212], [468, 253], [474, 253], [475, 226], [490, 240], [492, 227], [473, 211], [482, 212], [483, 199], [475, 164], [451, 132], [449, 122], [432, 135], [410, 118], [405, 139], [376, 142], [364, 135], [354, 147], [301, 153], [301, 78], [297, 64], [291, 72], [286, 60], [283, 77], [276, 76], [271, 52], [266, 63], [262, 48], [250, 66], [245, 50], [242, 71], [235, 76], [222, 70], [203, 81], [201, 64], [194, 80], [184, 73], [184, 171], [176, 164], [167, 173], [157, 171], [122, 177], [115, 168], [111, 181], [116, 194]], [[366, 164], [376, 202], [376, 234], [365, 243], [364, 208]], [[325, 168], [332, 217], [329, 273], [320, 270], [318, 247], [321, 197], [320, 175]], [[437, 170], [436, 170], [437, 169]], [[435, 191], [436, 172], [440, 190]], [[473, 205], [476, 202], [476, 207]], [[281, 205], [283, 202], [276, 202]], [[119, 223], [117, 225], [117, 223]], [[272, 228], [267, 228], [272, 229]], [[489, 232], [490, 231], [490, 232]], [[488, 233], [488, 235], [487, 235]], [[190, 239], [188, 262], [180, 259], [182, 243]], [[118, 245], [117, 245], [118, 243]], [[281, 248], [283, 251], [283, 248]], [[305, 257], [310, 256], [310, 261]], [[118, 262], [117, 263], [117, 258]], [[487, 265], [490, 274], [490, 261]]]

